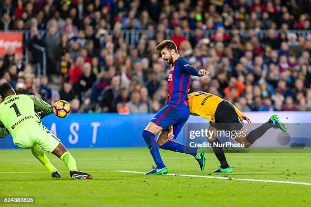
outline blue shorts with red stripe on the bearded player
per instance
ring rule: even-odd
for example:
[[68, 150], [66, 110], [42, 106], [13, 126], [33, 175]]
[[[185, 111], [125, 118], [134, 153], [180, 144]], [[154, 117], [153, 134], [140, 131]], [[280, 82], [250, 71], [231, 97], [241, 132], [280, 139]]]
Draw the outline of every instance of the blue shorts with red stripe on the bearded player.
[[162, 126], [164, 131], [168, 130], [169, 126], [173, 125], [174, 139], [176, 139], [189, 116], [189, 107], [171, 105], [164, 107], [157, 114], [155, 114], [155, 116], [151, 119], [151, 122], [157, 124], [158, 126]]

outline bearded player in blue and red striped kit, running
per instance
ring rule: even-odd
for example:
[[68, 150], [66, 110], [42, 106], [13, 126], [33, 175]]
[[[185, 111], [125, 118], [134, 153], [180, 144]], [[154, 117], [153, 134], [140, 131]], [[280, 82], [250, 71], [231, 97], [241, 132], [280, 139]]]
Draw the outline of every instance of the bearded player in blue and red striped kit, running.
[[[163, 175], [168, 173], [168, 169], [162, 161], [159, 146], [155, 141], [155, 135], [167, 137], [167, 130], [172, 125], [174, 137], [177, 137], [182, 126], [190, 115], [188, 92], [191, 88], [191, 76], [204, 76], [209, 74], [207, 71], [192, 67], [189, 62], [179, 56], [177, 47], [173, 41], [164, 40], [155, 50], [161, 54], [167, 64], [172, 64], [168, 77], [168, 100], [167, 106], [161, 109], [149, 122], [142, 133], [144, 141], [157, 165], [146, 175]], [[166, 131], [166, 133], [162, 133]], [[203, 148], [191, 148], [175, 141], [166, 142], [161, 146], [162, 149], [178, 151], [191, 154], [198, 161], [200, 168], [204, 169], [205, 157]]]

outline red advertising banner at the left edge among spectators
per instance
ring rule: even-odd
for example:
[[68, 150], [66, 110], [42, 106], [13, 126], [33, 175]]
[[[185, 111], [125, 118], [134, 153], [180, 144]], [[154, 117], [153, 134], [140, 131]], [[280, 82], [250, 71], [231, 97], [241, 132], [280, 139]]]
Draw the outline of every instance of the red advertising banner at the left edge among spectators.
[[22, 32], [0, 32], [0, 56], [6, 55], [8, 47], [14, 49], [15, 54], [23, 54]]

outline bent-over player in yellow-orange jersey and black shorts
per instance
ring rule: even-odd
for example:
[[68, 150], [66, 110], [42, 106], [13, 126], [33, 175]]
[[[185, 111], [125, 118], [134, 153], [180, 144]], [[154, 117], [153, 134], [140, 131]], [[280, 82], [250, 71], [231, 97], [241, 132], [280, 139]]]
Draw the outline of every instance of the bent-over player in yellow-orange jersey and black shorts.
[[[229, 101], [211, 93], [202, 91], [189, 93], [188, 97], [190, 114], [208, 119], [210, 121], [208, 131], [239, 131], [240, 133], [235, 133], [237, 135], [234, 140], [238, 143], [244, 144], [245, 148], [254, 144], [254, 142], [270, 128], [278, 128], [282, 131], [287, 131], [287, 128], [278, 120], [278, 117], [276, 115], [272, 115], [266, 123], [247, 134], [243, 128], [243, 120], [251, 123], [250, 118], [244, 115]], [[163, 143], [172, 140], [174, 137], [173, 132], [173, 129], [170, 129], [167, 139], [165, 139], [164, 136], [161, 137], [162, 140], [158, 139], [158, 145], [161, 146]], [[226, 160], [223, 148], [219, 147], [221, 146], [221, 142], [217, 139], [215, 134], [208, 137], [208, 141], [213, 148], [214, 154], [221, 163], [221, 166], [213, 172], [232, 172], [232, 167]]]

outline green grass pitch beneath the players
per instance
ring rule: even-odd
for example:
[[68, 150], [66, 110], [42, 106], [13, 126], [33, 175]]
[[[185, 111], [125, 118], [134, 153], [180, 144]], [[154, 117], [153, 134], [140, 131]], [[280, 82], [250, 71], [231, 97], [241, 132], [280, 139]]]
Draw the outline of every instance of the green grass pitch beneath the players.
[[[153, 160], [147, 148], [72, 149], [78, 169], [92, 180], [73, 180], [67, 168], [49, 154], [61, 171], [1, 173], [0, 196], [35, 196], [36, 206], [308, 206], [311, 186], [180, 176], [145, 176], [112, 170], [148, 171]], [[170, 174], [228, 176], [311, 183], [310, 154], [226, 154], [232, 174], [211, 174], [219, 166], [206, 154], [199, 169], [189, 155], [161, 150]], [[46, 171], [30, 150], [0, 150], [0, 172]], [[3, 204], [0, 204], [3, 205]], [[8, 206], [22, 206], [10, 204]], [[27, 204], [25, 206], [34, 206]]]

